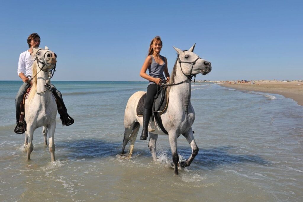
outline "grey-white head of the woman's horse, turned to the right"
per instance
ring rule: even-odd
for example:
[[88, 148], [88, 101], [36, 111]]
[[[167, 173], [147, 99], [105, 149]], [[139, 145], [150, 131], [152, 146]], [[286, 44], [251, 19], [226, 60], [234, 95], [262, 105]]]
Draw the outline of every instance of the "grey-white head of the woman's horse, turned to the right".
[[194, 76], [199, 73], [202, 73], [202, 75], [206, 75], [211, 71], [211, 63], [200, 58], [197, 54], [195, 54], [194, 44], [188, 51], [182, 51], [179, 48], [175, 48], [175, 50], [178, 53], [177, 62], [180, 65], [182, 73], [187, 76]]

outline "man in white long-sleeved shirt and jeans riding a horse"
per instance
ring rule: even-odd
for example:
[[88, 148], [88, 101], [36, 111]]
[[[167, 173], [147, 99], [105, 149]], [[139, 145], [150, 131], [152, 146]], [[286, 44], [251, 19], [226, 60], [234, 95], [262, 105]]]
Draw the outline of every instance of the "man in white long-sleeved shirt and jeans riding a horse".
[[[18, 62], [18, 76], [22, 79], [24, 82], [22, 86], [20, 87], [16, 99], [16, 119], [17, 119], [17, 126], [15, 128], [15, 133], [24, 133], [24, 127], [21, 122], [19, 122], [20, 119], [20, 104], [23, 100], [23, 95], [25, 94], [27, 88], [29, 87], [28, 82], [28, 76], [35, 76], [32, 75], [32, 52], [33, 48], [38, 48], [40, 45], [40, 36], [37, 33], [32, 33], [28, 36], [27, 44], [28, 44], [28, 50], [24, 51], [20, 54], [19, 62]], [[60, 91], [58, 91], [54, 85], [51, 84], [53, 94], [57, 98], [57, 106], [58, 106], [58, 112], [60, 114], [60, 119], [62, 121], [63, 125], [71, 125], [74, 123], [74, 120], [67, 114], [67, 110], [65, 107], [65, 104], [62, 99], [62, 94]]]

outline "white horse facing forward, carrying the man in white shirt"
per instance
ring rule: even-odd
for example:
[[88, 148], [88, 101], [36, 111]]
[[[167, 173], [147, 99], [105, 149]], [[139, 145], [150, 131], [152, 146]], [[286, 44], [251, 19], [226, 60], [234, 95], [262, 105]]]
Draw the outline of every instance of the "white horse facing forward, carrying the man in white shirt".
[[[25, 100], [25, 118], [26, 133], [25, 146], [27, 151], [27, 160], [33, 151], [33, 134], [36, 128], [43, 126], [44, 142], [46, 135], [49, 138], [49, 151], [51, 152], [52, 161], [55, 161], [55, 143], [54, 134], [56, 128], [57, 104], [50, 88], [50, 79], [52, 70], [57, 62], [57, 55], [53, 51], [49, 51], [45, 46], [42, 48], [33, 48], [32, 57], [34, 60], [32, 66], [32, 88], [28, 98]], [[27, 142], [29, 141], [29, 142]]]

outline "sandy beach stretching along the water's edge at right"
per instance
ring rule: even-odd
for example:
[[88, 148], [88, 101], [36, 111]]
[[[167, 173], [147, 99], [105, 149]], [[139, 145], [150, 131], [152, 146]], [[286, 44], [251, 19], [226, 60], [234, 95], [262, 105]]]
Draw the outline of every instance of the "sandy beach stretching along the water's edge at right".
[[254, 84], [251, 84], [250, 82], [237, 83], [237, 81], [228, 81], [228, 83], [222, 83], [219, 85], [243, 91], [258, 91], [280, 94], [286, 98], [293, 99], [294, 101], [298, 102], [299, 105], [303, 106], [303, 82], [301, 81], [282, 82], [259, 80], [253, 82]]

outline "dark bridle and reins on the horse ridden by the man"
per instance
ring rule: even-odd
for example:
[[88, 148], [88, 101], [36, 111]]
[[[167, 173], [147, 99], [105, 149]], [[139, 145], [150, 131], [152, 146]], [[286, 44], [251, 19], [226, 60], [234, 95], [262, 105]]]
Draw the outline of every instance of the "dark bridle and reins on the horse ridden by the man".
[[[40, 51], [40, 50], [46, 50], [46, 49], [45, 49], [45, 48], [39, 48], [38, 51]], [[51, 78], [53, 77], [53, 75], [54, 75], [54, 73], [55, 73], [55, 71], [56, 71], [56, 63], [55, 63], [55, 64], [53, 65], [53, 67], [50, 68], [49, 70], [47, 70], [47, 71], [44, 70], [43, 67], [44, 67], [44, 66], [47, 66], [47, 61], [44, 59], [44, 57], [45, 57], [45, 55], [46, 55], [47, 52], [51, 52], [51, 51], [46, 51], [46, 52], [44, 53], [44, 55], [43, 55], [41, 58], [39, 58], [39, 59], [38, 59], [38, 56], [37, 56], [38, 51], [36, 52], [36, 56], [35, 56], [34, 61], [37, 61], [37, 64], [38, 64], [38, 67], [39, 67], [40, 70], [37, 72], [37, 74], [36, 74], [33, 78], [35, 78], [35, 77], [38, 75], [38, 73], [39, 73], [40, 71], [48, 72], [48, 76], [47, 76], [47, 77], [48, 77], [48, 80], [46, 80], [46, 81], [45, 81], [45, 84], [44, 84], [45, 90], [44, 90], [44, 91], [40, 91], [40, 92], [37, 92], [37, 91], [36, 91], [37, 94], [40, 94], [40, 93], [44, 93], [44, 92], [47, 91], [47, 90], [52, 91], [52, 87], [51, 87], [51, 85], [49, 84], [49, 81], [51, 80]], [[40, 67], [39, 63], [42, 64], [42, 67]], [[53, 71], [53, 70], [54, 70], [54, 71]], [[33, 79], [33, 78], [31, 78], [31, 79]]]

